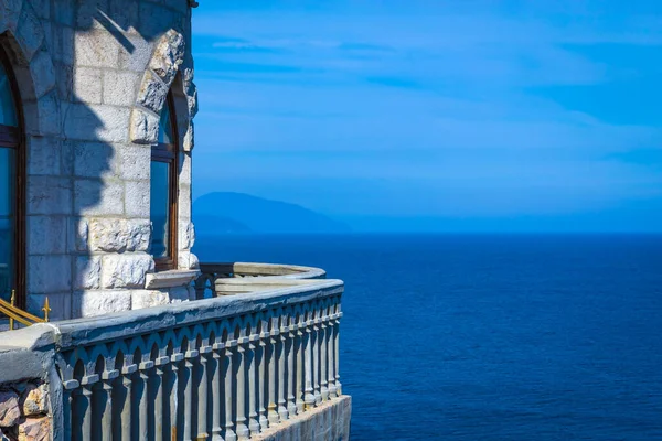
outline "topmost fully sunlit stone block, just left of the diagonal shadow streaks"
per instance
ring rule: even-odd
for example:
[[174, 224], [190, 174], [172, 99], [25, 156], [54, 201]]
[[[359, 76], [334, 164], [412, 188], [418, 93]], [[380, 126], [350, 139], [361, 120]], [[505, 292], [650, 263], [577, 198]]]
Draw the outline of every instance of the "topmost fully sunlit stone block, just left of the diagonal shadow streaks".
[[120, 44], [106, 30], [77, 32], [74, 47], [78, 66], [116, 67], [119, 62]]

